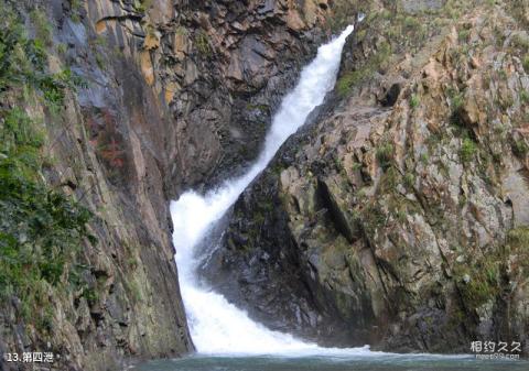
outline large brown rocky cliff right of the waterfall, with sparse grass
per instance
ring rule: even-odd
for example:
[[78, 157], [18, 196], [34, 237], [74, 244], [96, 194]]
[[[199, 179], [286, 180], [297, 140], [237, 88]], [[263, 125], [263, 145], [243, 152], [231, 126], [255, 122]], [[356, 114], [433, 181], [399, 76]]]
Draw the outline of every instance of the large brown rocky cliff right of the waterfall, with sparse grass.
[[529, 334], [527, 1], [373, 1], [207, 275], [272, 328], [468, 352]]

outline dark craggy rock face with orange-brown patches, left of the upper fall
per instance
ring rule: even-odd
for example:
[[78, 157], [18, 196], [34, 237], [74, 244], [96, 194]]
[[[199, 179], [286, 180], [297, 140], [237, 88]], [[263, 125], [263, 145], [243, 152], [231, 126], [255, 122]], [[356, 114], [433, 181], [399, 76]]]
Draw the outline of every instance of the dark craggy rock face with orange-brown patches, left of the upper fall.
[[100, 36], [140, 46], [132, 55], [171, 120], [163, 153], [172, 194], [215, 185], [255, 159], [280, 97], [321, 43], [328, 12], [313, 0], [89, 10]]

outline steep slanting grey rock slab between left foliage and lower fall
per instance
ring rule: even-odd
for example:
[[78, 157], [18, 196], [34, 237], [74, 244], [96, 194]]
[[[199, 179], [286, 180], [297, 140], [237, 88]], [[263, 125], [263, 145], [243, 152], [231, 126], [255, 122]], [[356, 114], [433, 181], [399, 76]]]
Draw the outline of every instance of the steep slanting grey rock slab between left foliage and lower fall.
[[128, 358], [183, 354], [193, 345], [173, 260], [161, 151], [170, 120], [133, 59], [97, 35], [91, 18], [76, 13], [82, 4], [69, 7], [50, 1], [11, 8], [43, 45], [45, 74], [55, 79], [71, 68], [82, 86], [64, 91], [55, 107], [46, 98], [53, 89], [26, 84], [26, 97], [12, 86], [3, 108], [19, 107], [45, 133], [40, 177], [90, 210], [94, 238], [73, 243], [73, 255], [63, 252], [71, 257], [58, 282], [34, 269], [29, 287], [4, 301], [2, 353], [51, 351], [57, 370], [112, 370]]

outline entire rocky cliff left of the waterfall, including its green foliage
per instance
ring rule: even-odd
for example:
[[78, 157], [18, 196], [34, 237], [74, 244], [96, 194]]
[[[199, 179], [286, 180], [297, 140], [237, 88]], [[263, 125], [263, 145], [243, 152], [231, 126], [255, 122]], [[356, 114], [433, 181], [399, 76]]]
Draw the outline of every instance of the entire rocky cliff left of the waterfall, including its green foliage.
[[331, 4], [0, 6], [0, 352], [114, 370], [193, 350], [169, 200], [255, 156]]

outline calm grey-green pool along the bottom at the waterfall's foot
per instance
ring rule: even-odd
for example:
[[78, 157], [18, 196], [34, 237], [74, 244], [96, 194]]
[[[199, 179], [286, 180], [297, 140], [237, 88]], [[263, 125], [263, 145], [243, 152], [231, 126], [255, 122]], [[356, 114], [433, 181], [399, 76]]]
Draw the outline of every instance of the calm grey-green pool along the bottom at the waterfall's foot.
[[384, 354], [366, 357], [206, 357], [140, 364], [134, 371], [529, 371], [525, 360]]

